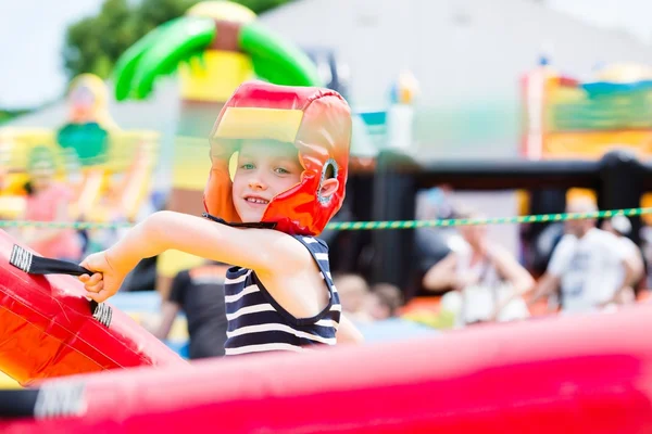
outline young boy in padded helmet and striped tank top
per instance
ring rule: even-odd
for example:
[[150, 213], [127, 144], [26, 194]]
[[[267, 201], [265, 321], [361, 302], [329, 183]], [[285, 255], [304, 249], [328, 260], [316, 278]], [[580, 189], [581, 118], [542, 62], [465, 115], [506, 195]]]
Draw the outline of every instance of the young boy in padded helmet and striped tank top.
[[344, 199], [350, 141], [350, 108], [337, 92], [241, 85], [211, 132], [206, 218], [155, 213], [88, 256], [82, 265], [93, 275], [79, 278], [88, 297], [105, 301], [139, 260], [174, 248], [235, 265], [225, 282], [227, 356], [361, 342], [341, 315], [328, 246], [313, 238]]

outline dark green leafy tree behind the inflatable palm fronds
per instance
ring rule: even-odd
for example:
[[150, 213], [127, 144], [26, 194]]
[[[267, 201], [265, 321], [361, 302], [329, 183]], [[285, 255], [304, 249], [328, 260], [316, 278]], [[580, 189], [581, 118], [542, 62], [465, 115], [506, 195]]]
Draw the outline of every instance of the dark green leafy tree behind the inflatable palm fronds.
[[[256, 14], [291, 0], [235, 0]], [[181, 16], [199, 0], [104, 0], [100, 12], [72, 24], [65, 35], [63, 61], [68, 78], [83, 73], [102, 78], [121, 54], [159, 25]]]

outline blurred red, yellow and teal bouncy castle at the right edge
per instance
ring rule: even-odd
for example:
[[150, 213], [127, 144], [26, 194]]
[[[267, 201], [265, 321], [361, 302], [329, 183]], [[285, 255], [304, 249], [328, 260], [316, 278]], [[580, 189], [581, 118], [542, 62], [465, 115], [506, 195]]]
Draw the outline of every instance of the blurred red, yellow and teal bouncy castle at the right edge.
[[[542, 59], [523, 77], [521, 89], [525, 158], [600, 159], [616, 149], [640, 161], [652, 156], [652, 67], [611, 64], [580, 79]], [[594, 192], [573, 189], [573, 195]], [[641, 206], [650, 203], [647, 194]], [[650, 216], [643, 219], [652, 222]]]

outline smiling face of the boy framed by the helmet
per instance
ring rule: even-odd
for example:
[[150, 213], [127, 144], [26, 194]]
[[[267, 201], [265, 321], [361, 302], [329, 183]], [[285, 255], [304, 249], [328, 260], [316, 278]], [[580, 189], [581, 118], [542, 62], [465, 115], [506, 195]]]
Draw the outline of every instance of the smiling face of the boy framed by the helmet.
[[242, 222], [261, 221], [274, 196], [299, 183], [303, 167], [294, 145], [244, 140], [234, 176], [234, 205]]

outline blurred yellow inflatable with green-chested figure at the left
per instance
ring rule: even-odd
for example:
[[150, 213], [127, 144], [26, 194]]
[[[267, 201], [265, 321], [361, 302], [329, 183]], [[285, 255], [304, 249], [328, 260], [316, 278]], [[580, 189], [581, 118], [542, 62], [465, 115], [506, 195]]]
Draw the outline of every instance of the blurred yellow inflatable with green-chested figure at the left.
[[76, 77], [67, 93], [68, 114], [57, 130], [0, 128], [0, 214], [23, 213], [27, 157], [35, 146], [51, 150], [59, 181], [74, 188], [73, 219], [135, 220], [151, 191], [158, 162], [159, 133], [123, 130], [111, 118], [108, 89], [91, 74]]

